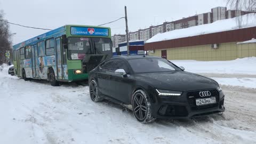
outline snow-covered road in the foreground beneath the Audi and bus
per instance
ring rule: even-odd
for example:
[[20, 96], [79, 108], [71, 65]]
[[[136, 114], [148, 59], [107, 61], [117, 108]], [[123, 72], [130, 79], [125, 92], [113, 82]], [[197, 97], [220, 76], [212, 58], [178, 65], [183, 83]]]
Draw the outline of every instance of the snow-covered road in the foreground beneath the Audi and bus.
[[[256, 143], [256, 90], [222, 86], [226, 112], [141, 124], [88, 87], [53, 87], [0, 72], [0, 143]], [[15, 85], [15, 86], [14, 86]]]

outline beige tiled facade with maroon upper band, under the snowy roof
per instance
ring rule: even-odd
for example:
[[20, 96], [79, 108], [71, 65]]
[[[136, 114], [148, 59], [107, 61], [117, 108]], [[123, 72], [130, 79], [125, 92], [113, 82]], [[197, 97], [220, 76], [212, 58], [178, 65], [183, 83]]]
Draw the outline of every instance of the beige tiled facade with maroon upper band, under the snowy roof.
[[256, 57], [255, 39], [244, 42], [252, 38], [256, 38], [256, 27], [146, 43], [145, 50], [168, 60], [234, 60]]

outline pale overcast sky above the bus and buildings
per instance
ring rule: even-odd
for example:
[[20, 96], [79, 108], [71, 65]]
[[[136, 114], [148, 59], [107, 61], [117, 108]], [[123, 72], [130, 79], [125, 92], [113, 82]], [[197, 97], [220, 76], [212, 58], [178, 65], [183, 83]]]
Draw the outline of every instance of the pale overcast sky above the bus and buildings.
[[[67, 24], [100, 25], [124, 17], [127, 6], [129, 31], [159, 25], [164, 21], [178, 20], [195, 14], [210, 12], [211, 8], [226, 6], [226, 0], [0, 0], [0, 9], [5, 19], [31, 27], [55, 29]], [[125, 34], [125, 21], [105, 25], [112, 35]], [[37, 30], [10, 25], [13, 44], [45, 33]]]

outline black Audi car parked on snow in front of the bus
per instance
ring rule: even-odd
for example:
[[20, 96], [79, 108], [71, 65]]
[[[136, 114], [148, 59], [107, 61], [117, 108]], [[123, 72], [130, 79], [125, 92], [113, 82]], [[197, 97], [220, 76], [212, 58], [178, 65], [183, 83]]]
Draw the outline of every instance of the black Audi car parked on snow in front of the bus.
[[158, 57], [111, 58], [90, 72], [89, 87], [93, 102], [119, 103], [142, 123], [225, 111], [225, 95], [216, 81]]

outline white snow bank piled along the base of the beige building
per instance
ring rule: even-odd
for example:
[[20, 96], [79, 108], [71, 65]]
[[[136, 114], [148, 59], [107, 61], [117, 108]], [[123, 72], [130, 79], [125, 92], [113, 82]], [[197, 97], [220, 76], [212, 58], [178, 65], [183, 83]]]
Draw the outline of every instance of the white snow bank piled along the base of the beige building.
[[256, 57], [230, 61], [170, 60], [191, 73], [256, 75]]

